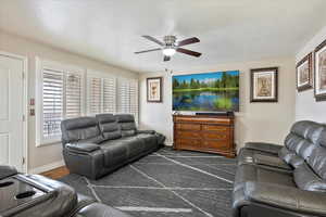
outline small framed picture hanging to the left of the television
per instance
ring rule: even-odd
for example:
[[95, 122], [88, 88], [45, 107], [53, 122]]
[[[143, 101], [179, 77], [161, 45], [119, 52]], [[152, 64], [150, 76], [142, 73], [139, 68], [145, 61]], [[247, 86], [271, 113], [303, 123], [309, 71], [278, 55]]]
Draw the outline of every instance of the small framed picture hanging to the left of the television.
[[147, 78], [147, 102], [162, 102], [162, 77]]

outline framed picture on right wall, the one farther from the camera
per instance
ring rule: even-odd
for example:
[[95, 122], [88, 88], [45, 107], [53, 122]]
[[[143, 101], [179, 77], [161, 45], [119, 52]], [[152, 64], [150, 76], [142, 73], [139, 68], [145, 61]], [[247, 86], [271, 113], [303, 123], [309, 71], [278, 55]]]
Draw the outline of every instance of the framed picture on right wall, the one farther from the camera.
[[297, 64], [297, 89], [303, 91], [312, 87], [312, 53], [309, 53]]

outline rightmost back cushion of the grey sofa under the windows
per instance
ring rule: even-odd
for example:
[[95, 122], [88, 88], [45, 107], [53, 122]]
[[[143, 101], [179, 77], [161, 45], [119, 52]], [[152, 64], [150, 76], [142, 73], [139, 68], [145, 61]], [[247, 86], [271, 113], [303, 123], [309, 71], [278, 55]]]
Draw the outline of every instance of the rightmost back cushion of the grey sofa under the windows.
[[136, 135], [137, 128], [136, 128], [134, 115], [120, 114], [120, 115], [115, 115], [115, 117], [121, 127], [123, 137], [129, 137]]

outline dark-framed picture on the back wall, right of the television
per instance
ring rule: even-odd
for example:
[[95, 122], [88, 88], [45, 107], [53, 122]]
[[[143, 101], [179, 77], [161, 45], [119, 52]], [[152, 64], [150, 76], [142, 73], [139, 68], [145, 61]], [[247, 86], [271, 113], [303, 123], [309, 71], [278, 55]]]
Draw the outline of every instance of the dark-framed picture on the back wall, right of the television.
[[250, 102], [278, 101], [278, 67], [251, 69]]

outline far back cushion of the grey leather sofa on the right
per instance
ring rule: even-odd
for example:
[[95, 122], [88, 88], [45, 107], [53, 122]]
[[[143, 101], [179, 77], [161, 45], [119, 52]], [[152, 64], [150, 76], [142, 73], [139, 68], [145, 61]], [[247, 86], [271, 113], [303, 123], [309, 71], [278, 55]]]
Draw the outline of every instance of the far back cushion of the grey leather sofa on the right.
[[321, 124], [302, 120], [297, 122], [285, 140], [285, 148], [279, 156], [297, 167], [312, 154], [324, 127]]

